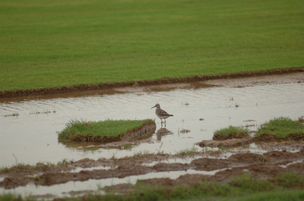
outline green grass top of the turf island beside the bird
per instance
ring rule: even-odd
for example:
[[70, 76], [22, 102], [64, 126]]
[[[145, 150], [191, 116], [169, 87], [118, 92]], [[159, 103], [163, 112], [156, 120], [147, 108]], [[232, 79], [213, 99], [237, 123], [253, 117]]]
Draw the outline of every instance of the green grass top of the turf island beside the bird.
[[64, 130], [58, 132], [58, 138], [64, 140], [76, 140], [81, 137], [92, 138], [119, 138], [125, 132], [136, 129], [144, 123], [154, 123], [153, 119], [144, 120], [101, 120], [101, 121], [87, 121], [87, 120], [70, 120]]

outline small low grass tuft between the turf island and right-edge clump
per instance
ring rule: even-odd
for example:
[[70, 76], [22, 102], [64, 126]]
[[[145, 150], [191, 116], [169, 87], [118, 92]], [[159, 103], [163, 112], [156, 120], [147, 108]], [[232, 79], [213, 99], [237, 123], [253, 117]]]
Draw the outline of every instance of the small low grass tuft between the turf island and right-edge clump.
[[243, 138], [248, 137], [250, 130], [243, 126], [229, 126], [226, 128], [221, 128], [213, 132], [213, 139], [233, 139], [233, 138]]

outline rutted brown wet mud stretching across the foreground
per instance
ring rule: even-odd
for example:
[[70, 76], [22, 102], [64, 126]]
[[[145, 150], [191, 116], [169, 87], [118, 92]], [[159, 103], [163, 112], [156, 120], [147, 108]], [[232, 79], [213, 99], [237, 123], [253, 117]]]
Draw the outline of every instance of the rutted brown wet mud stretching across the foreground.
[[[99, 160], [83, 159], [79, 161], [63, 161], [61, 164], [37, 163], [35, 166], [14, 167], [0, 173], [4, 179], [0, 186], [5, 189], [35, 185], [51, 186], [69, 181], [86, 181], [90, 179], [124, 178], [132, 175], [144, 175], [155, 172], [169, 171], [213, 171], [215, 174], [186, 174], [176, 180], [169, 178], [148, 179], [145, 183], [154, 183], [164, 187], [174, 185], [192, 185], [204, 180], [229, 182], [234, 176], [248, 173], [256, 178], [271, 178], [281, 173], [302, 173], [304, 168], [304, 142], [260, 143], [265, 153], [249, 153], [247, 151], [232, 152], [227, 157], [221, 157], [222, 152], [197, 152], [186, 157], [193, 160], [190, 163], [168, 163], [168, 160], [178, 160], [185, 156], [163, 153], [135, 155], [121, 159]], [[275, 149], [275, 150], [273, 150]], [[295, 151], [293, 151], [295, 150]], [[103, 167], [103, 169], [85, 170], [85, 168]], [[80, 172], [73, 172], [76, 168], [84, 168]], [[116, 192], [126, 193], [133, 189], [133, 185], [119, 184], [107, 188]]]

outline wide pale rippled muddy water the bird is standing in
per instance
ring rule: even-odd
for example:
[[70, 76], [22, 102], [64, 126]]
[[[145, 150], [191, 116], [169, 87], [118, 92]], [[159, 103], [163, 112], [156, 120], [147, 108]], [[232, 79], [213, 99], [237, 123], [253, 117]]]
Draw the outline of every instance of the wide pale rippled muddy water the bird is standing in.
[[[304, 115], [303, 100], [303, 83], [230, 88], [202, 82], [2, 98], [0, 165], [119, 158], [158, 150], [175, 154], [197, 147], [194, 145], [196, 142], [212, 139], [213, 131], [222, 127], [259, 125], [279, 116], [298, 118]], [[174, 115], [166, 120], [166, 126], [161, 125], [155, 109], [150, 109], [156, 103]], [[19, 116], [5, 117], [13, 113]], [[81, 118], [93, 121], [156, 118], [157, 127], [131, 148], [117, 144], [108, 146], [105, 143], [57, 140], [57, 131], [62, 130], [65, 123]], [[189, 129], [190, 132], [183, 134], [179, 132], [182, 129]], [[250, 129], [256, 130], [256, 126]]]

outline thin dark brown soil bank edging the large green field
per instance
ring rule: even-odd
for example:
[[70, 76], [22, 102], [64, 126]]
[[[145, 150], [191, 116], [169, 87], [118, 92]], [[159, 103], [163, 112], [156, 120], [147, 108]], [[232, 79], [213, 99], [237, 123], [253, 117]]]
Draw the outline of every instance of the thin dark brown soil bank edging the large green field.
[[241, 73], [232, 73], [232, 74], [197, 75], [192, 77], [162, 78], [155, 80], [81, 84], [81, 85], [70, 85], [63, 87], [45, 87], [45, 88], [37, 88], [37, 89], [3, 90], [0, 91], [0, 98], [43, 95], [43, 94], [60, 94], [60, 93], [67, 93], [74, 91], [110, 89], [114, 87], [132, 87], [132, 86], [137, 87], [137, 86], [148, 86], [148, 85], [158, 85], [158, 84], [186, 83], [186, 82], [207, 81], [207, 80], [216, 80], [216, 79], [231, 79], [231, 78], [240, 78], [240, 77], [287, 74], [287, 73], [296, 73], [296, 72], [304, 72], [304, 67], [282, 68], [282, 69], [274, 69], [268, 71], [253, 71], [253, 72], [241, 72]]

